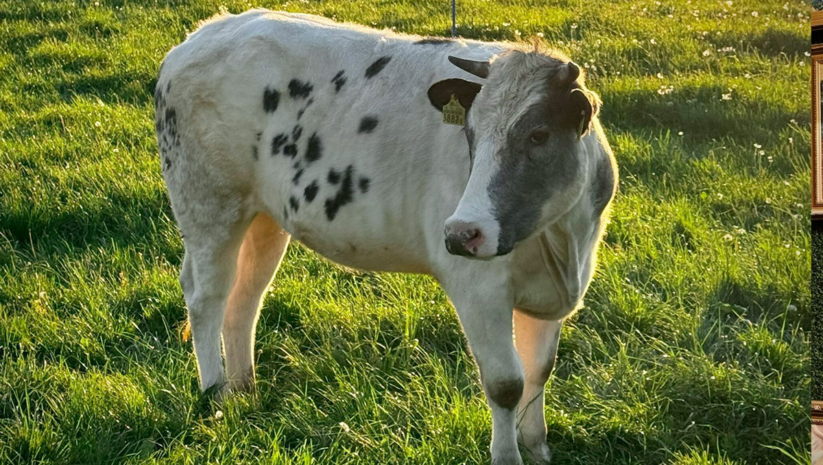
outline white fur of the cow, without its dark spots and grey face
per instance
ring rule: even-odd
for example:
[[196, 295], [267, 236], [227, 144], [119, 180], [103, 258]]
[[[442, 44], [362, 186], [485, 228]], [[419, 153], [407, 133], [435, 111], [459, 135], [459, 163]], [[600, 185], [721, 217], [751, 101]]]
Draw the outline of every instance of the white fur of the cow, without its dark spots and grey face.
[[[449, 254], [444, 247], [449, 217], [484, 222], [489, 247], [496, 249], [498, 231], [486, 193], [494, 166], [483, 153], [493, 151], [493, 141], [528, 100], [510, 95], [523, 82], [528, 87], [528, 79], [521, 69], [506, 67], [490, 78], [498, 83], [499, 95], [491, 95], [485, 108], [472, 109], [481, 142], [469, 180], [466, 138], [461, 128], [441, 123], [426, 91], [451, 77], [481, 81], [450, 64], [448, 55], [488, 59], [517, 46], [472, 40], [413, 44], [420, 39], [317, 16], [256, 10], [207, 21], [165, 58], [158, 89], [169, 86], [165, 104], [176, 110], [180, 143], [162, 153], [170, 160], [164, 176], [184, 235], [180, 279], [201, 388], [248, 387], [260, 297], [291, 235], [347, 266], [437, 277], [481, 367], [493, 416], [493, 463], [522, 463], [518, 416], [528, 453], [546, 462], [546, 367], [553, 364], [562, 319], [580, 305], [592, 277], [605, 215], [593, 218], [578, 189], [564, 198], [562, 211], [546, 212], [551, 221], [512, 253], [486, 260]], [[365, 69], [382, 56], [391, 61], [365, 79]], [[335, 92], [331, 80], [339, 70], [347, 81]], [[508, 81], [505, 73], [511, 73]], [[272, 138], [290, 133], [295, 114], [305, 106], [305, 100], [289, 97], [291, 79], [314, 86], [314, 104], [300, 119], [298, 158], [311, 134], [317, 133], [323, 145], [319, 160], [304, 163], [297, 186], [292, 182], [295, 160], [269, 153]], [[263, 111], [266, 86], [280, 91], [273, 113]], [[373, 133], [359, 134], [366, 115], [379, 122]], [[584, 137], [585, 150], [608, 152], [596, 121], [593, 128]], [[253, 146], [258, 160], [253, 160]], [[354, 199], [328, 221], [325, 201], [339, 188], [328, 183], [328, 171], [343, 174], [349, 165], [355, 172]], [[584, 164], [584, 170], [582, 179], [590, 179], [593, 164]], [[360, 177], [370, 179], [368, 192], [360, 191]], [[304, 188], [315, 179], [319, 192], [306, 202]], [[297, 212], [289, 207], [292, 196], [300, 200]], [[490, 250], [482, 255], [490, 256]], [[517, 409], [498, 405], [500, 386], [518, 380], [524, 380], [524, 393], [537, 403], [524, 396]]]

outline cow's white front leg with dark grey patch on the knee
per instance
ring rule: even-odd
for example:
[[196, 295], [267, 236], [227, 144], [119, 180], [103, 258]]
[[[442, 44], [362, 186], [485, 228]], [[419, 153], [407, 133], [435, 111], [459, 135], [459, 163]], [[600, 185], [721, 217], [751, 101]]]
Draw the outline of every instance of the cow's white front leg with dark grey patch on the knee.
[[491, 407], [491, 463], [520, 465], [523, 460], [515, 421], [523, 393], [523, 367], [512, 342], [512, 302], [507, 289], [480, 284], [455, 290], [449, 296], [477, 360]]

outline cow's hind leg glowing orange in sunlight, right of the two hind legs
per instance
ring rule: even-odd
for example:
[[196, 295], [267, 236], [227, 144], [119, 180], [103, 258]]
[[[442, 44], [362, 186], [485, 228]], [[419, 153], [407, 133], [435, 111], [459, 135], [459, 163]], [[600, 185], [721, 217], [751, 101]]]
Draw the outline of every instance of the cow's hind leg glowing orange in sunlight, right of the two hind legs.
[[253, 388], [254, 328], [260, 302], [288, 244], [288, 233], [271, 216], [258, 213], [240, 245], [235, 284], [223, 321], [226, 381], [233, 391]]

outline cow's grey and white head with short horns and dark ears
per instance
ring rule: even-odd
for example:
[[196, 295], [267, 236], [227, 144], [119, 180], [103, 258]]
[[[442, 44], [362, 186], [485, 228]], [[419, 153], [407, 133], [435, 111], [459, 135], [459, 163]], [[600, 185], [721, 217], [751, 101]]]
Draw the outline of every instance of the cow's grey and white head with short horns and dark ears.
[[584, 192], [589, 160], [581, 138], [599, 99], [585, 88], [576, 64], [546, 53], [449, 61], [483, 83], [448, 79], [429, 89], [436, 108], [457, 95], [467, 109], [472, 170], [446, 220], [446, 248], [475, 258], [505, 255], [568, 212]]

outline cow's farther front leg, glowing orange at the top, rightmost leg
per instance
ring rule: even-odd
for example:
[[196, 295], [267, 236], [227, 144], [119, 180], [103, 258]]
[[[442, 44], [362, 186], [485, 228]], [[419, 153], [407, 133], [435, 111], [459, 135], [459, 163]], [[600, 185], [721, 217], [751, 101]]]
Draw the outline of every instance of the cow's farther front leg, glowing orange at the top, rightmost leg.
[[536, 319], [514, 309], [514, 345], [525, 372], [523, 398], [518, 405], [518, 440], [532, 463], [549, 463], [543, 391], [555, 366], [563, 321]]

